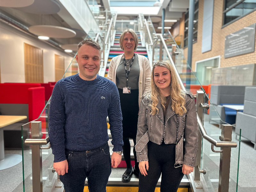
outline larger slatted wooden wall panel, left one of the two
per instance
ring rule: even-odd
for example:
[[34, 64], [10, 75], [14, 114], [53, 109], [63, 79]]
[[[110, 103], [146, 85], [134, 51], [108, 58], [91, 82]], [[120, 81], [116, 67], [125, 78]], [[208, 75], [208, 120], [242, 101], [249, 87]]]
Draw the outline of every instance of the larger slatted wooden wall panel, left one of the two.
[[44, 83], [43, 49], [24, 43], [25, 82]]

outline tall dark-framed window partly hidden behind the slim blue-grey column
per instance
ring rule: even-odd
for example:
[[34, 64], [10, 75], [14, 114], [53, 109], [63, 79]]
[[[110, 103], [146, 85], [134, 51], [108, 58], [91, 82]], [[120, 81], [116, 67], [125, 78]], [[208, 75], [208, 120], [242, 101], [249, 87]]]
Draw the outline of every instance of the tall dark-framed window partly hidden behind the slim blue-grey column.
[[[195, 2], [193, 42], [197, 41], [197, 23], [198, 23], [198, 8], [199, 8], [198, 2], [199, 1]], [[185, 13], [184, 47], [188, 46], [188, 16], [189, 16], [189, 11]]]

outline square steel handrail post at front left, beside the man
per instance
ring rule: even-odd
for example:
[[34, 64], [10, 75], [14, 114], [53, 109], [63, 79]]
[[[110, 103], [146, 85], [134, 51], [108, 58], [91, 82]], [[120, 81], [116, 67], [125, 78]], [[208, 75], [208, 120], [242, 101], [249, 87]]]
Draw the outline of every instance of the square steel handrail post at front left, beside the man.
[[[42, 139], [41, 121], [31, 123], [31, 139]], [[33, 192], [43, 192], [42, 150], [41, 145], [32, 145], [32, 188]]]

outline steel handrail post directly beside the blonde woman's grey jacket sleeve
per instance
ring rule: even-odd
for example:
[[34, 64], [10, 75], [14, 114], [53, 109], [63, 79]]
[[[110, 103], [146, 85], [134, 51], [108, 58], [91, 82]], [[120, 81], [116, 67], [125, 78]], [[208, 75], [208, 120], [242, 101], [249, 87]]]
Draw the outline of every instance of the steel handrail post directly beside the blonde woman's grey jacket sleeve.
[[[204, 103], [204, 92], [203, 91], [196, 91], [196, 109], [197, 114], [203, 122], [203, 115], [204, 109], [201, 107], [201, 103]], [[201, 168], [201, 155], [202, 155], [202, 135], [201, 132], [198, 130], [198, 143], [197, 143], [197, 156], [196, 156], [196, 166], [194, 169], [194, 181], [196, 188], [202, 188], [202, 183], [200, 181], [200, 168]]]

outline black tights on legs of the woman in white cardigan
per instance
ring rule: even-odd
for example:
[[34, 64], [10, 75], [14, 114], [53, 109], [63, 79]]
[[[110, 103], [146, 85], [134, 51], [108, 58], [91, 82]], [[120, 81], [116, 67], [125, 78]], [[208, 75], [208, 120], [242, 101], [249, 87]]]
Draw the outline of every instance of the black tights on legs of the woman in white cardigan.
[[[132, 139], [134, 146], [136, 144], [136, 139]], [[123, 145], [123, 154], [124, 154], [124, 160], [127, 166], [127, 169], [131, 169], [132, 168], [132, 164], [131, 164], [131, 144], [130, 144], [130, 140], [128, 137], [123, 137], [123, 141], [124, 141], [124, 145]], [[134, 155], [134, 159], [135, 159], [135, 170], [137, 172], [139, 172], [139, 163], [137, 162], [137, 156], [136, 156], [136, 151], [135, 151], [135, 147], [133, 147], [133, 155]]]

